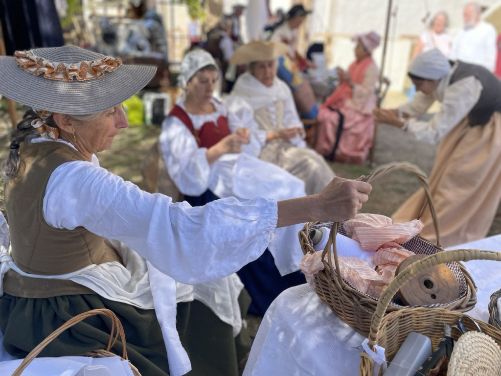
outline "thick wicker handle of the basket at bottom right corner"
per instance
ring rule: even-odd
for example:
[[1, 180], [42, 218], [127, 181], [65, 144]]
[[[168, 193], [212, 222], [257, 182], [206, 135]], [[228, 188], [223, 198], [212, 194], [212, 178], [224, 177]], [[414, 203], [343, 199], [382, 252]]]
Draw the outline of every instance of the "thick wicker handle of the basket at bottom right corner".
[[386, 290], [384, 290], [379, 297], [376, 310], [372, 315], [371, 330], [369, 332], [368, 342], [370, 348], [374, 348], [374, 345], [377, 343], [381, 321], [383, 320], [385, 312], [388, 309], [393, 296], [405, 283], [410, 281], [414, 276], [421, 273], [423, 270], [431, 268], [435, 265], [446, 264], [454, 261], [459, 262], [469, 260], [501, 261], [501, 252], [483, 251], [478, 249], [456, 249], [453, 251], [442, 251], [418, 260], [402, 270], [401, 273], [393, 278]]

